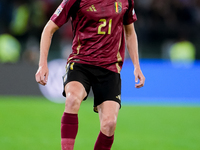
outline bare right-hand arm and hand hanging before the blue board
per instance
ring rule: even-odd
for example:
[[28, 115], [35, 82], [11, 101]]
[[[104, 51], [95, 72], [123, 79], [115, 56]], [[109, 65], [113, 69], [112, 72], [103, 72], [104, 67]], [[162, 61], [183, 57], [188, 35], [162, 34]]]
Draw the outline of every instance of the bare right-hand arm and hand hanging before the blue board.
[[140, 88], [144, 86], [145, 77], [140, 69], [139, 64], [137, 35], [133, 24], [125, 25], [124, 29], [127, 49], [134, 65], [135, 82], [137, 83], [138, 79], [140, 80], [140, 82], [136, 84], [135, 87]]

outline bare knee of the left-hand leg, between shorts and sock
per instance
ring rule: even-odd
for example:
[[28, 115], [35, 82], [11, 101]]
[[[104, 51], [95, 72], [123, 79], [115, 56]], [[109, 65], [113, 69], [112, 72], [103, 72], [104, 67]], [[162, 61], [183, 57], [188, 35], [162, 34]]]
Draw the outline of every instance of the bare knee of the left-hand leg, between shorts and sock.
[[73, 92], [66, 93], [65, 111], [69, 113], [77, 113], [80, 105], [81, 99]]

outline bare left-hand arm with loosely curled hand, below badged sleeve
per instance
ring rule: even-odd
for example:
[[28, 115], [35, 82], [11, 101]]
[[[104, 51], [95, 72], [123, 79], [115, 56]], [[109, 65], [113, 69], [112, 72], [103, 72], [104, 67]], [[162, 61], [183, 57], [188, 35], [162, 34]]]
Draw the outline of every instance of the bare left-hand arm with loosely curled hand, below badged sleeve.
[[39, 68], [35, 74], [35, 79], [38, 83], [46, 85], [49, 75], [49, 70], [47, 66], [47, 58], [49, 53], [49, 48], [51, 45], [51, 39], [53, 34], [59, 27], [53, 22], [49, 21], [42, 32], [41, 41], [40, 41], [40, 60]]

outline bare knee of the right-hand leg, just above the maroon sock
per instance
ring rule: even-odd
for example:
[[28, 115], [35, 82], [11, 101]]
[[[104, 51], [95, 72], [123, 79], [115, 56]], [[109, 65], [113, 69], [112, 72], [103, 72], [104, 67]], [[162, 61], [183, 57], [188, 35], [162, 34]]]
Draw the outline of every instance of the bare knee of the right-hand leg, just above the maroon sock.
[[116, 128], [117, 120], [115, 117], [106, 117], [101, 122], [101, 130], [107, 136], [112, 136]]

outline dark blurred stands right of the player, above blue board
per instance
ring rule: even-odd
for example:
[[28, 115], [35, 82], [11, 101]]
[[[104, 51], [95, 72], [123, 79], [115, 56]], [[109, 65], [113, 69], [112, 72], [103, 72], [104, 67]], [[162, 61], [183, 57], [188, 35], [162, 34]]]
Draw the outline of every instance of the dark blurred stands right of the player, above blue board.
[[[200, 0], [136, 1], [138, 31], [143, 57], [163, 57], [169, 45], [190, 41], [200, 48]], [[151, 55], [152, 54], [152, 55]], [[199, 52], [196, 51], [196, 58]]]

